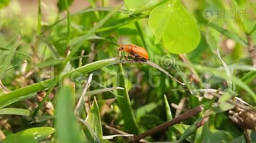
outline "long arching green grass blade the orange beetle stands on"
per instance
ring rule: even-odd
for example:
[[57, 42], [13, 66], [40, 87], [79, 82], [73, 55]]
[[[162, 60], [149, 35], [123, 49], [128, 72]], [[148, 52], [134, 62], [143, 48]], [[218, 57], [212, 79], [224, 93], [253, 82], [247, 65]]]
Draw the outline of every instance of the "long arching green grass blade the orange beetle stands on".
[[[105, 60], [101, 60], [101, 61], [95, 61], [95, 62], [86, 64], [80, 68], [77, 68], [73, 71], [70, 71], [64, 75], [61, 75], [59, 77], [59, 79], [62, 79], [64, 77], [67, 77], [67, 78], [81, 77], [86, 73], [93, 72], [102, 67], [114, 65], [114, 64], [118, 64], [118, 63], [123, 63], [123, 62], [124, 61], [121, 61], [120, 58], [110, 58], [110, 59], [105, 59]], [[132, 61], [127, 61], [127, 63], [131, 63], [131, 62]], [[157, 66], [157, 64], [153, 63], [152, 61], [147, 61], [147, 62], [143, 62], [143, 63], [159, 69], [161, 72], [164, 72], [165, 74], [167, 74], [168, 76], [170, 76], [172, 78], [172, 76], [167, 71], [165, 71], [160, 66]], [[21, 89], [18, 89], [18, 90], [15, 90], [15, 91], [12, 91], [5, 95], [0, 96], [0, 108], [10, 105], [13, 102], [17, 102], [19, 100], [25, 99], [30, 96], [29, 94], [49, 88], [49, 86], [52, 84], [52, 82], [54, 82], [56, 80], [56, 78], [57, 77], [48, 79], [48, 80], [45, 80], [42, 82], [38, 82], [38, 83], [23, 87]], [[58, 80], [56, 80], [56, 81], [57, 81], [57, 83], [59, 82]]]

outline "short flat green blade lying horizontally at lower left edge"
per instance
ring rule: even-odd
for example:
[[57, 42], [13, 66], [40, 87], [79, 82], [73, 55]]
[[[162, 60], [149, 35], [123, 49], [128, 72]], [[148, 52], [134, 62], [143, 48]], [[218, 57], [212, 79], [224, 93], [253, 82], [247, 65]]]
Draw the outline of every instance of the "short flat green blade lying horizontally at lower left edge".
[[0, 115], [4, 115], [4, 114], [30, 116], [30, 110], [20, 109], [20, 108], [3, 108], [3, 109], [0, 109]]

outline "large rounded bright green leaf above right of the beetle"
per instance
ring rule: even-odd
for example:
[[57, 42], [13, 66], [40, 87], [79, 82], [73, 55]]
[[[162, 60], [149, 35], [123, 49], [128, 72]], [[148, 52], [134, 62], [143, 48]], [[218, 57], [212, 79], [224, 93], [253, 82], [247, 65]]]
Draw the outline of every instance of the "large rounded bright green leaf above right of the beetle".
[[172, 53], [192, 51], [200, 41], [194, 17], [179, 0], [170, 0], [152, 10], [149, 26], [154, 33], [155, 44], [162, 39], [163, 46]]

